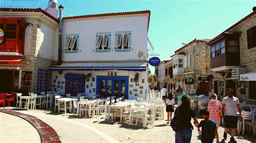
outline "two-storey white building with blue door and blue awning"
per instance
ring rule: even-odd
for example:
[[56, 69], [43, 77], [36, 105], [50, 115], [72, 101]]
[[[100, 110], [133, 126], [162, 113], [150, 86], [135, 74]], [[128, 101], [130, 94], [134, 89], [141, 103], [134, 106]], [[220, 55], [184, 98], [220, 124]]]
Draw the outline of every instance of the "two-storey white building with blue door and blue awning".
[[[64, 17], [62, 63], [50, 68], [52, 91], [146, 98], [149, 20], [150, 11]], [[53, 55], [57, 61], [57, 48]]]

